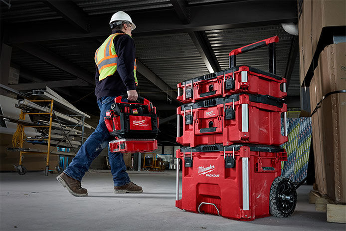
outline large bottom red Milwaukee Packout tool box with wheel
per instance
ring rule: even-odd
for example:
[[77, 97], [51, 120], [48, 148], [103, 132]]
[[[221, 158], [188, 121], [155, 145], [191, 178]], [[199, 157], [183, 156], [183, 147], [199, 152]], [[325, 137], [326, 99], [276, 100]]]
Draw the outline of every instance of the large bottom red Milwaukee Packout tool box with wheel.
[[295, 186], [280, 176], [281, 161], [287, 161], [280, 147], [208, 145], [181, 148], [176, 157], [182, 160], [180, 199], [178, 170], [176, 177], [179, 209], [243, 221], [288, 217], [295, 210]]

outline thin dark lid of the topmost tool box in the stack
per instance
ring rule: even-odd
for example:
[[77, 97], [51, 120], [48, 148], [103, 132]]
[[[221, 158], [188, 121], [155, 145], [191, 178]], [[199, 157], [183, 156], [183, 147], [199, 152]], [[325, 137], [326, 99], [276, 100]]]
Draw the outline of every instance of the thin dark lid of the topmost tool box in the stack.
[[181, 82], [181, 85], [189, 84], [189, 83], [191, 83], [191, 81], [199, 82], [199, 81], [202, 81], [202, 80], [214, 79], [217, 76], [223, 75], [223, 72], [225, 72], [225, 74], [229, 74], [229, 73], [233, 72], [233, 69], [234, 69], [234, 71], [238, 71], [239, 68], [242, 67], [242, 66], [248, 67], [249, 71], [251, 71], [251, 72], [267, 75], [267, 76], [270, 76], [270, 77], [275, 78], [277, 80], [282, 80], [282, 77], [280, 77], [279, 75], [275, 75], [273, 73], [266, 72], [266, 71], [263, 71], [263, 70], [260, 70], [260, 69], [248, 66], [248, 65], [241, 65], [241, 66], [236, 66], [234, 68], [228, 68], [228, 69], [224, 69], [224, 70], [221, 70], [221, 71], [218, 71], [218, 72], [213, 72], [213, 73], [201, 75], [201, 76], [198, 76], [198, 77], [195, 77], [195, 78], [187, 79], [187, 80]]

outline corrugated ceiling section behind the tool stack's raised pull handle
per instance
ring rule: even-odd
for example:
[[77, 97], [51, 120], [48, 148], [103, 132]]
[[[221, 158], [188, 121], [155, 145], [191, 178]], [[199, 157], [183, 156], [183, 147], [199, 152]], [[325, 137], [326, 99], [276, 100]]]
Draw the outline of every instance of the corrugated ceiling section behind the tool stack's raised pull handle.
[[[269, 25], [261, 27], [209, 30], [205, 31], [210, 42], [215, 57], [222, 69], [229, 66], [229, 52], [233, 49], [269, 38], [275, 35], [279, 36], [279, 42], [276, 43], [276, 73], [285, 77], [285, 71], [292, 42], [292, 35], [287, 33], [281, 25]], [[250, 65], [258, 69], [268, 71], [268, 47], [262, 47], [244, 54], [237, 55], [237, 65]], [[295, 64], [296, 71], [292, 73], [289, 90], [294, 89], [299, 80], [299, 63]], [[298, 69], [298, 71], [297, 71]], [[298, 85], [299, 86], [299, 85]], [[297, 95], [297, 92], [288, 91], [289, 95]], [[299, 93], [298, 93], [299, 95]]]

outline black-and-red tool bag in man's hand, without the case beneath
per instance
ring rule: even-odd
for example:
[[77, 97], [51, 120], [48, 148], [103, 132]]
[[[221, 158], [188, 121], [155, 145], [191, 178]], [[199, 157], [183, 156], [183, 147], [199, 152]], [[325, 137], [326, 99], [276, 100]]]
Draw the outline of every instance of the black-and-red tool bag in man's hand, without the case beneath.
[[123, 97], [127, 95], [115, 98], [115, 103], [104, 118], [111, 136], [119, 139], [155, 139], [159, 132], [156, 107], [141, 96], [136, 102], [122, 102]]

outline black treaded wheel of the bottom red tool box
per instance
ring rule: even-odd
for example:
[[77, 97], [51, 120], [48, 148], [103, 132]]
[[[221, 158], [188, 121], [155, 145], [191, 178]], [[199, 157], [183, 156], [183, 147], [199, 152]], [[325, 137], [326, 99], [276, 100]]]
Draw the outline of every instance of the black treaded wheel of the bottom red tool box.
[[291, 216], [296, 209], [297, 192], [292, 181], [277, 177], [270, 188], [269, 212], [278, 218]]

